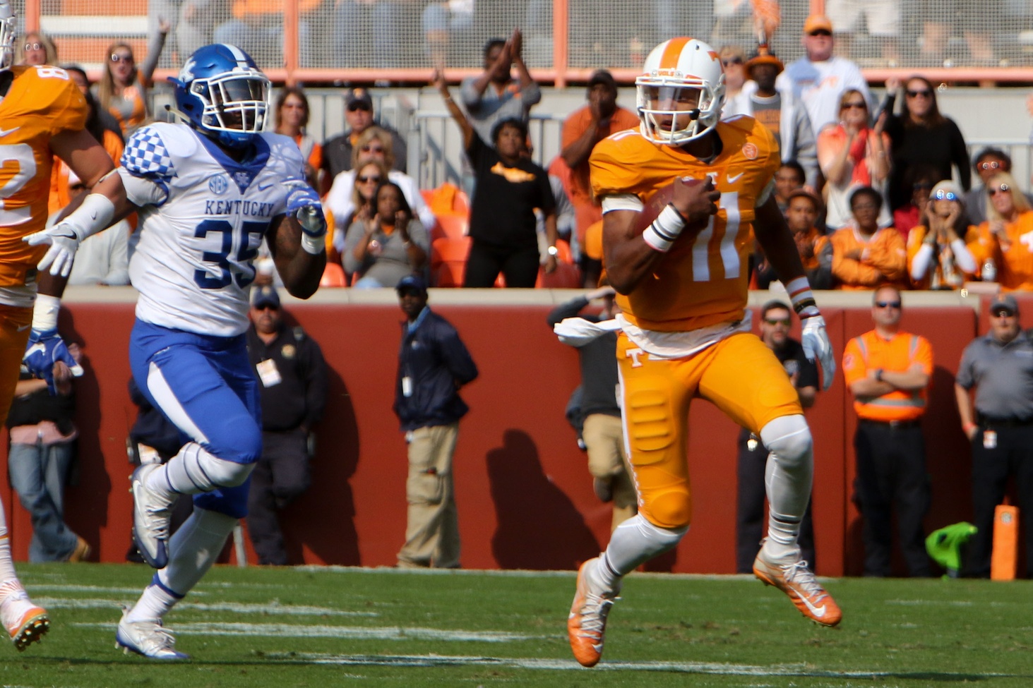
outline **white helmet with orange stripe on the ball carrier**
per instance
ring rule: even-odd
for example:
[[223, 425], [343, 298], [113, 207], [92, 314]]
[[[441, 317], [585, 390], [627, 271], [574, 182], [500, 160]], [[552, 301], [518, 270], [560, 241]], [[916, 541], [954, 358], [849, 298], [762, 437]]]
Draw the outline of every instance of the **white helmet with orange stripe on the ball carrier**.
[[[635, 80], [643, 136], [681, 146], [717, 126], [724, 105], [724, 70], [713, 48], [695, 38], [665, 40], [646, 58], [643, 71]], [[690, 91], [698, 92], [696, 106], [679, 110], [676, 103]], [[687, 124], [686, 116], [691, 117]]]

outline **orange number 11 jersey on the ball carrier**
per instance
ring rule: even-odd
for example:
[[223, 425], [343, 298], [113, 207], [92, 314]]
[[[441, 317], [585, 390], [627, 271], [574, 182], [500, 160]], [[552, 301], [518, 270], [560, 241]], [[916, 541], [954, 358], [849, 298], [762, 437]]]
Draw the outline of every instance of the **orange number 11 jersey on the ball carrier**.
[[680, 147], [653, 144], [637, 129], [613, 134], [592, 151], [597, 198], [634, 194], [646, 202], [678, 177], [711, 177], [721, 192], [706, 229], [676, 242], [652, 276], [627, 296], [618, 294], [625, 317], [640, 327], [681, 332], [743, 317], [755, 209], [781, 161], [774, 135], [752, 118], [723, 121], [717, 134], [722, 150], [709, 163]]

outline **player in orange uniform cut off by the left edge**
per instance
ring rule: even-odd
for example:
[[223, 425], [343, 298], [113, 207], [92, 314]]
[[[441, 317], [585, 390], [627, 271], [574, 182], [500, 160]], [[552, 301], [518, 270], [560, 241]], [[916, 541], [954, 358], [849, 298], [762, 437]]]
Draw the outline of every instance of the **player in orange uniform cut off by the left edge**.
[[[68, 74], [44, 65], [13, 66], [15, 22], [9, 0], [0, 0], [0, 417], [10, 408], [23, 355], [51, 382], [58, 362], [82, 374], [57, 336], [64, 280], [37, 275], [36, 263], [48, 247], [22, 241], [46, 222], [54, 156], [87, 186], [114, 168], [104, 149], [83, 129], [86, 100]], [[39, 639], [50, 625], [46, 612], [32, 603], [14, 573], [2, 506], [0, 620], [19, 650]]]

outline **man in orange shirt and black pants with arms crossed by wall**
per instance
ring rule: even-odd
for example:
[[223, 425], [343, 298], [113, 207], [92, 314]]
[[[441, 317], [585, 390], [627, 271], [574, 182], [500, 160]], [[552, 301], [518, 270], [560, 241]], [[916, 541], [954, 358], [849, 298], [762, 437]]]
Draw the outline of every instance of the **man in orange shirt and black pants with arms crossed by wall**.
[[853, 446], [857, 505], [864, 520], [865, 575], [890, 574], [893, 517], [912, 576], [932, 570], [921, 521], [929, 510], [926, 441], [919, 425], [928, 404], [933, 347], [902, 332], [901, 292], [875, 290], [875, 329], [854, 337], [843, 351], [843, 376], [859, 421]]

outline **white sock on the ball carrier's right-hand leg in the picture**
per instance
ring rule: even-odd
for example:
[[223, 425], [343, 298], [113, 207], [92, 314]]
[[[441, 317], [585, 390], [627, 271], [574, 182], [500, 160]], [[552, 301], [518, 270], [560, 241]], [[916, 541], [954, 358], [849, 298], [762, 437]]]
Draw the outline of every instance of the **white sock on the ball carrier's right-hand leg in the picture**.
[[768, 539], [764, 551], [782, 559], [799, 551], [800, 523], [811, 498], [814, 455], [811, 431], [802, 415], [775, 418], [760, 430], [771, 454], [764, 468]]

